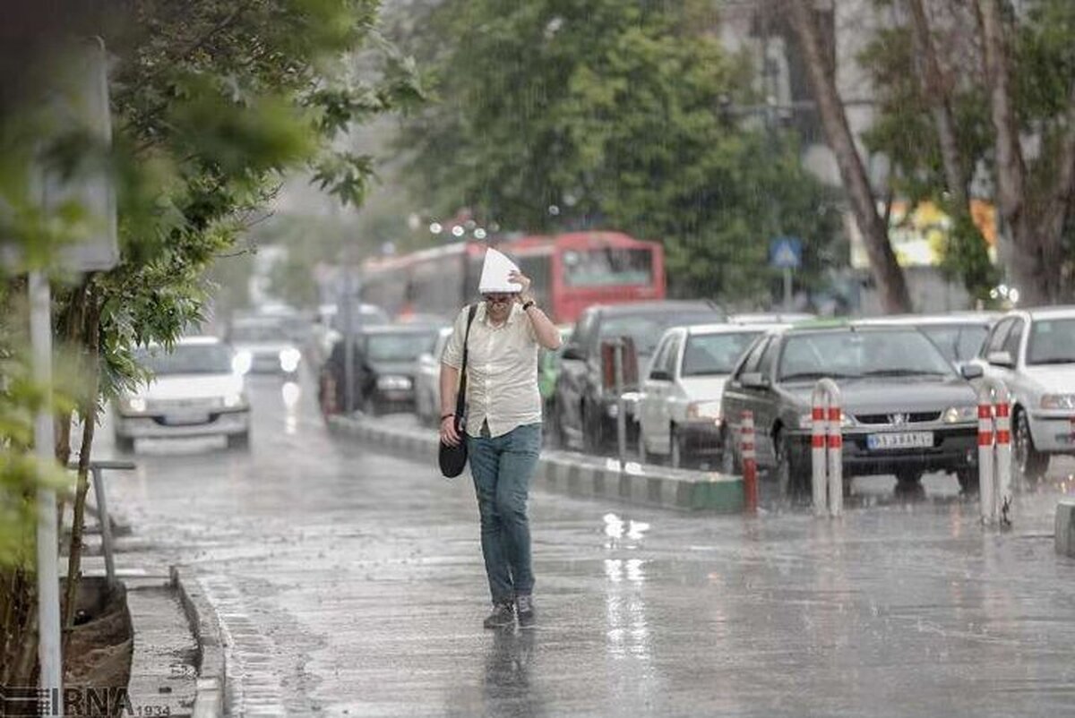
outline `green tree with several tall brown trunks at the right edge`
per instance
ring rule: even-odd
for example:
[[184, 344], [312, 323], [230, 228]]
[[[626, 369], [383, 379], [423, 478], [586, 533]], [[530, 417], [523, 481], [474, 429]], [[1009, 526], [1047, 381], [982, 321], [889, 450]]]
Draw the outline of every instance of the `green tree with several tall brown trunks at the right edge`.
[[945, 265], [972, 295], [985, 298], [1000, 274], [968, 209], [976, 177], [987, 176], [979, 197], [997, 202], [1004, 271], [1029, 304], [1070, 297], [1075, 5], [898, 4], [912, 11], [907, 23], [880, 31], [861, 58], [882, 109], [866, 144], [891, 158], [894, 191], [955, 218]]

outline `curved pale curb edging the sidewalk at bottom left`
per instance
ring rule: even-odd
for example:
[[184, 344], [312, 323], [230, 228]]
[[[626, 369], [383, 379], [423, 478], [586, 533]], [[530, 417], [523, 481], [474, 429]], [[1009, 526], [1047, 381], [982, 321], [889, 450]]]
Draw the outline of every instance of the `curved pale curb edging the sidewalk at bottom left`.
[[169, 573], [198, 642], [198, 683], [191, 715], [194, 718], [219, 718], [224, 715], [227, 664], [216, 612], [201, 587], [185, 580], [178, 566], [171, 566]]

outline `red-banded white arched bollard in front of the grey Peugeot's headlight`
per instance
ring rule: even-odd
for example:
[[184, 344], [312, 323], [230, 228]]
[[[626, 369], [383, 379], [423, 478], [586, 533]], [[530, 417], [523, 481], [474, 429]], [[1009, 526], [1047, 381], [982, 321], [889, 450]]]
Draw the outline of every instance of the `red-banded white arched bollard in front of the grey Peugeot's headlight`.
[[811, 478], [814, 515], [844, 512], [844, 433], [840, 387], [818, 380], [811, 397]]

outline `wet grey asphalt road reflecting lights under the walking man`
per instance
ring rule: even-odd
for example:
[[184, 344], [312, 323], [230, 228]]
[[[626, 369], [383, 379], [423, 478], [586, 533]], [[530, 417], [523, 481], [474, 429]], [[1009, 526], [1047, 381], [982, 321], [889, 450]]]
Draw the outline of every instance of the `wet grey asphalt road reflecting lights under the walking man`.
[[110, 478], [120, 565], [182, 563], [219, 611], [235, 713], [1075, 713], [1075, 561], [1051, 540], [1075, 464], [1004, 534], [948, 477], [857, 480], [840, 521], [535, 493], [539, 626], [494, 633], [469, 480], [329, 435], [306, 389], [252, 393], [249, 451], [146, 442]]

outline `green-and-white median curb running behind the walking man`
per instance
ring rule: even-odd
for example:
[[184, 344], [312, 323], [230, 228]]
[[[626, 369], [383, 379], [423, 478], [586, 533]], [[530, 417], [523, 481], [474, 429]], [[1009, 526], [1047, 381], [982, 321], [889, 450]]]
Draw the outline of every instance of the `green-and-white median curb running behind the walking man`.
[[[431, 431], [378, 426], [367, 419], [329, 417], [334, 433], [406, 458], [436, 461], [440, 442]], [[628, 462], [624, 471], [615, 459], [573, 451], [543, 450], [534, 486], [550, 493], [577, 498], [613, 499], [640, 506], [676, 511], [740, 513], [746, 505], [741, 476], [684, 471]]]

